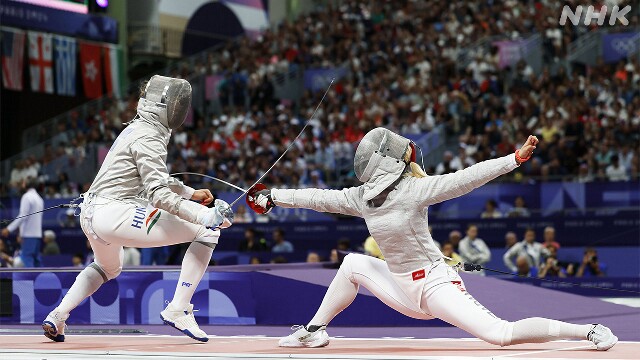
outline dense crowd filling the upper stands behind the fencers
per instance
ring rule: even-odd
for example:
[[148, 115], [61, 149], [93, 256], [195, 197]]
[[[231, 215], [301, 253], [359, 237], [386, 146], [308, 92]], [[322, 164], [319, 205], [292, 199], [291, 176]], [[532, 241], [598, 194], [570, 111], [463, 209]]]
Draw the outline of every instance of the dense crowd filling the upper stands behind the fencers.
[[[629, 59], [571, 72], [557, 66], [552, 73], [549, 66], [566, 55], [567, 45], [593, 28], [551, 21], [561, 5], [351, 1], [284, 22], [257, 41], [230, 42], [206, 61], [185, 63], [171, 74], [219, 74], [223, 79], [218, 86], [222, 112], [196, 109], [193, 124], [174, 132], [170, 170], [248, 186], [296, 136], [322, 95], [306, 91], [299, 106], [280, 101], [273, 77], [292, 68], [344, 66], [348, 75], [329, 92], [267, 183], [354, 184], [354, 147], [368, 130], [386, 126], [415, 135], [438, 125], [457, 137], [459, 146], [437, 166], [428, 166], [430, 174], [508, 154], [534, 133], [542, 141], [536, 157], [513, 175], [516, 181], [637, 179], [640, 63]], [[637, 23], [635, 17], [631, 21]], [[466, 68], [459, 66], [462, 49], [478, 39], [530, 33], [543, 37], [541, 73], [524, 61], [500, 68], [495, 49], [476, 54]], [[109, 99], [87, 117], [76, 113], [68, 123], [59, 123], [44, 156], [18, 161], [2, 193], [15, 195], [15, 185], [36, 174], [45, 184], [45, 197], [82, 193], [90, 179], [70, 178], [66, 170], [83, 163], [89, 147], [113, 142], [123, 123], [134, 117], [137, 97], [132, 92], [122, 100]]]

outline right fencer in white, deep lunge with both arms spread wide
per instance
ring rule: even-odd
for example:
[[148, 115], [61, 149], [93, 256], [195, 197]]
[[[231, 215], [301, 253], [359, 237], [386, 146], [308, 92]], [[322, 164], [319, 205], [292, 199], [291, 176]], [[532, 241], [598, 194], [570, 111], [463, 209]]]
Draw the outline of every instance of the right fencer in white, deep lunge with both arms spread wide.
[[355, 154], [354, 170], [364, 184], [343, 190], [272, 189], [252, 198], [261, 210], [308, 208], [364, 218], [386, 262], [360, 254], [344, 258], [315, 316], [280, 339], [282, 347], [329, 344], [327, 325], [355, 299], [360, 285], [400, 313], [442, 319], [500, 346], [556, 339], [588, 339], [598, 350], [617, 342], [599, 324], [576, 325], [545, 318], [502, 320], [465, 289], [457, 269], [443, 261], [428, 230], [429, 205], [464, 195], [528, 160], [538, 143], [529, 136], [514, 154], [480, 162], [452, 174], [427, 176], [415, 163], [408, 139], [384, 128], [369, 131]]

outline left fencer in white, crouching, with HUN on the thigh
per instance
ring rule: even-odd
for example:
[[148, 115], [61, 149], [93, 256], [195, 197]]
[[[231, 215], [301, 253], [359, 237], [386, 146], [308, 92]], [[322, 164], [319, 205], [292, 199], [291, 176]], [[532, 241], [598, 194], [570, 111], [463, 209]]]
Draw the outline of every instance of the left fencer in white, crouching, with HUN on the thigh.
[[191, 85], [186, 80], [155, 75], [142, 90], [137, 115], [117, 137], [84, 194], [80, 224], [95, 261], [78, 274], [60, 305], [42, 323], [48, 338], [64, 341], [69, 313], [120, 274], [123, 246], [191, 242], [176, 292], [160, 317], [196, 340], [208, 340], [190, 302], [218, 243], [219, 229], [231, 225], [233, 212], [222, 200], [206, 207], [214, 201], [209, 190], [195, 190], [169, 176], [166, 158], [171, 130], [182, 125], [190, 106]]

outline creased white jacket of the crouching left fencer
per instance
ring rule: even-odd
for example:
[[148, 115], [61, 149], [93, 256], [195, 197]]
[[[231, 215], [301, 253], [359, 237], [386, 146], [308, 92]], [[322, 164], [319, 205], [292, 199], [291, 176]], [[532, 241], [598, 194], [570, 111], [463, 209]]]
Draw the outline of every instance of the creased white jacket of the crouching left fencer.
[[111, 146], [87, 194], [143, 204], [196, 223], [203, 205], [190, 199], [195, 191], [169, 176], [167, 145], [171, 132], [164, 125], [138, 119], [128, 125]]

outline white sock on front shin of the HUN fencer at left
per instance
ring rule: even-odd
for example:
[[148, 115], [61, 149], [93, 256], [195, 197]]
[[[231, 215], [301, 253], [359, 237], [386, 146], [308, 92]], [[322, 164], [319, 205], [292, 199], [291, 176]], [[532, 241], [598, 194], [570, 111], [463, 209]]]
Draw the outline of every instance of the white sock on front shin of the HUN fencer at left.
[[180, 278], [176, 286], [176, 293], [173, 295], [171, 305], [177, 308], [184, 308], [191, 303], [191, 298], [196, 292], [196, 287], [202, 280], [204, 272], [207, 271], [213, 248], [208, 245], [192, 242], [182, 259], [182, 269]]

